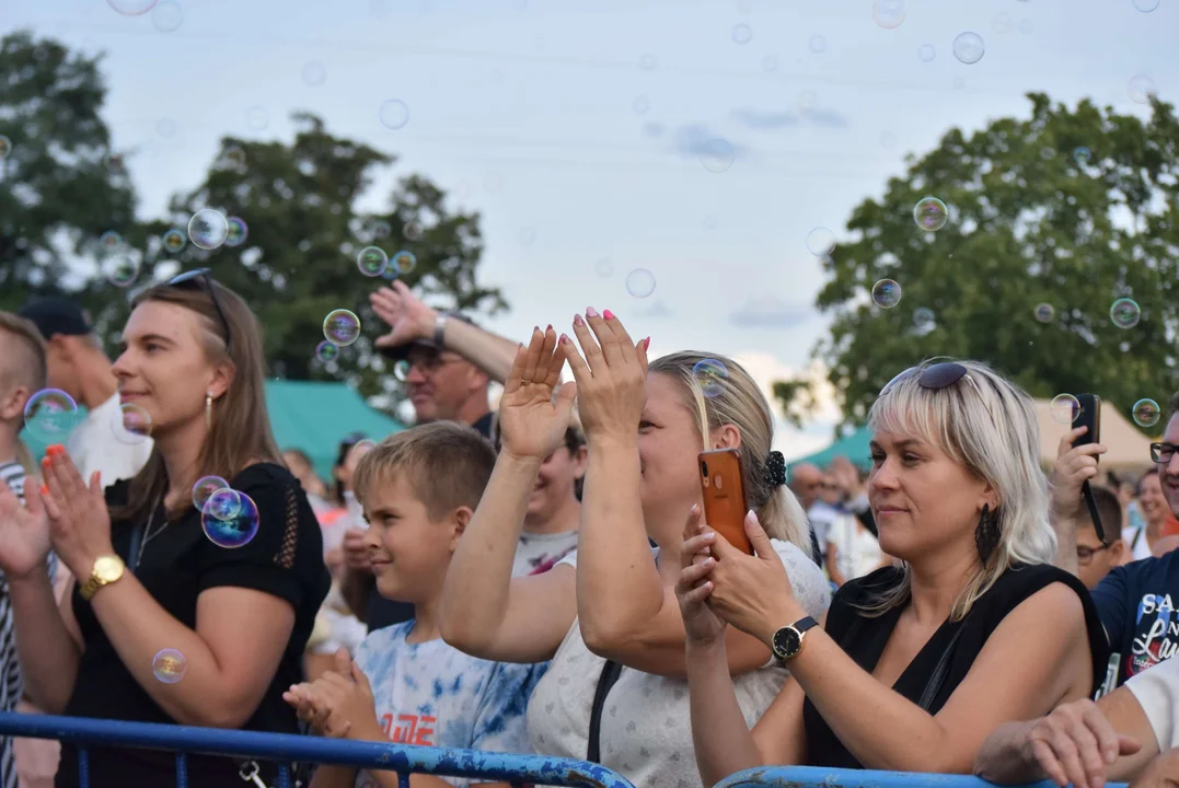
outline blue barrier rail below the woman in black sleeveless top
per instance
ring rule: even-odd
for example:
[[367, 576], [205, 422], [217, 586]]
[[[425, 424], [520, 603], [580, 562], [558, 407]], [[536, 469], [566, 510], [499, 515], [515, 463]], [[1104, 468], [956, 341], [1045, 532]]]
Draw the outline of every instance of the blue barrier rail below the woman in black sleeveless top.
[[[964, 774], [918, 774], [871, 769], [824, 769], [816, 766], [777, 766], [746, 769], [718, 782], [716, 788], [995, 788], [994, 783]], [[1056, 788], [1048, 780], [1027, 788]], [[1106, 788], [1126, 788], [1108, 782]]]

